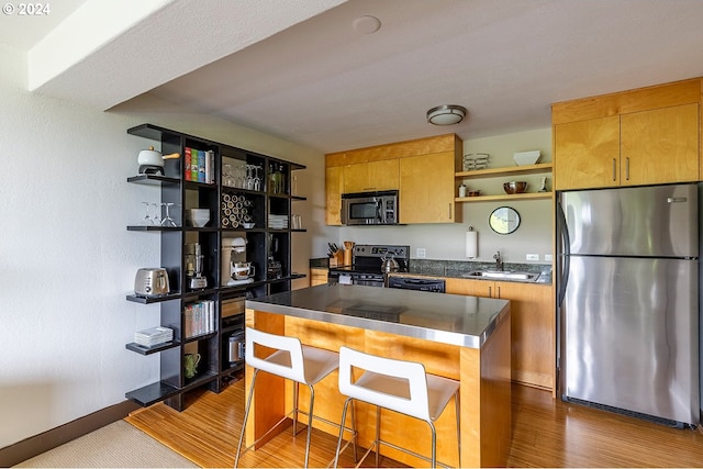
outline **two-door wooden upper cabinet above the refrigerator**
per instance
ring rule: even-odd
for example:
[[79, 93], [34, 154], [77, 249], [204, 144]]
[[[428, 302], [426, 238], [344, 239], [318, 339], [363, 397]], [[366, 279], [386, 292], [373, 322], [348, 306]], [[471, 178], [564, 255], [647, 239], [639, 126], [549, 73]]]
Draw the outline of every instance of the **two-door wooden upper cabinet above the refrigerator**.
[[701, 79], [553, 105], [557, 190], [700, 180]]

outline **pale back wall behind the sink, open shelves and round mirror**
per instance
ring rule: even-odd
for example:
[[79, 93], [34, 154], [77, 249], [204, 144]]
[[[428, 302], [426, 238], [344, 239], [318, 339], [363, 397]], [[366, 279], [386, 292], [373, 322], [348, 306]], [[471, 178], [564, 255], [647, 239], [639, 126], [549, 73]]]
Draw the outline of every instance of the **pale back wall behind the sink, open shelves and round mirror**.
[[[501, 168], [515, 166], [513, 153], [531, 149], [542, 152], [540, 163], [551, 161], [551, 130], [520, 132], [496, 135], [486, 138], [467, 139], [464, 142], [464, 153], [489, 153], [490, 167]], [[480, 189], [484, 194], [504, 193], [502, 185], [509, 180], [528, 181], [528, 191], [539, 187], [543, 175], [526, 177], [501, 177], [480, 181], [467, 181], [470, 189]], [[460, 182], [457, 181], [457, 186]], [[548, 176], [547, 188], [551, 189], [551, 177]], [[545, 263], [545, 255], [551, 254], [551, 200], [504, 201], [504, 202], [472, 202], [464, 203], [464, 223], [445, 223], [428, 225], [383, 226], [383, 227], [342, 227], [337, 228], [335, 237], [321, 239], [313, 244], [313, 255], [324, 257], [327, 241], [341, 244], [353, 241], [358, 244], [408, 244], [411, 246], [411, 257], [415, 258], [416, 248], [426, 249], [427, 259], [467, 260], [465, 238], [466, 231], [473, 226], [479, 238], [478, 260], [492, 261], [493, 254], [500, 250], [506, 263], [533, 264], [526, 261], [527, 254], [538, 254], [538, 264]], [[489, 224], [490, 213], [502, 205], [514, 208], [521, 215], [522, 222], [517, 231], [510, 235], [494, 233]], [[459, 205], [461, 206], [461, 205]], [[403, 210], [402, 206], [400, 210]]]

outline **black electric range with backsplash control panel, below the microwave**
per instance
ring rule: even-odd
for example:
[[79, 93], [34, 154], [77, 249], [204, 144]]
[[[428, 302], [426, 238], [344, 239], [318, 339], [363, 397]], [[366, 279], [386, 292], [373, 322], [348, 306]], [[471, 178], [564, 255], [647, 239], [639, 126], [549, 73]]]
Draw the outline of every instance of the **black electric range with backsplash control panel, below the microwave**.
[[352, 265], [331, 267], [330, 282], [386, 287], [384, 259], [393, 256], [399, 272], [408, 271], [410, 246], [357, 244], [352, 249]]

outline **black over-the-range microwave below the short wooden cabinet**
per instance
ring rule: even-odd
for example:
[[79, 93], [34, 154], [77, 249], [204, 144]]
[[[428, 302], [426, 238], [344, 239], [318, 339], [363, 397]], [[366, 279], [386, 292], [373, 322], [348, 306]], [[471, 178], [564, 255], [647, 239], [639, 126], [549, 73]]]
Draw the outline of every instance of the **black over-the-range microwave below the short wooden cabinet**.
[[343, 193], [342, 224], [397, 225], [398, 191]]

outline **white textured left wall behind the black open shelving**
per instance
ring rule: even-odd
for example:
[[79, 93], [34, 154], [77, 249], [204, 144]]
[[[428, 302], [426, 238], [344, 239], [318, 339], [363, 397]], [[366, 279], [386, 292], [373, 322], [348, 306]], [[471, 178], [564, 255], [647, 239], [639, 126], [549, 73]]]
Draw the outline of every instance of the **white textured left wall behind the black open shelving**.
[[[158, 323], [158, 305], [125, 300], [136, 269], [159, 264], [159, 236], [125, 228], [157, 197], [126, 182], [148, 145], [129, 127], [149, 122], [310, 165], [301, 192], [324, 164], [316, 152], [145, 100], [99, 112], [35, 96], [24, 54], [0, 45], [0, 62], [2, 448], [158, 380], [157, 355], [124, 348]], [[320, 212], [297, 203], [308, 220]], [[295, 236], [294, 267], [306, 271], [314, 231]]]

